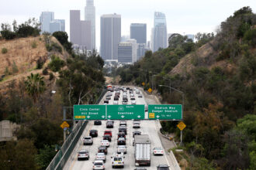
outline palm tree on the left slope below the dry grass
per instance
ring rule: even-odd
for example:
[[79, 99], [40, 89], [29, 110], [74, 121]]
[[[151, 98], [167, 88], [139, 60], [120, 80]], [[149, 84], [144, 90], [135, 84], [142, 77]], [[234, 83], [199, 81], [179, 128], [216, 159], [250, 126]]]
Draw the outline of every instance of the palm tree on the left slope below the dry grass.
[[27, 76], [25, 85], [27, 93], [29, 93], [29, 96], [33, 97], [34, 102], [36, 102], [37, 98], [45, 90], [43, 76], [40, 76], [39, 73], [31, 73], [30, 76]]

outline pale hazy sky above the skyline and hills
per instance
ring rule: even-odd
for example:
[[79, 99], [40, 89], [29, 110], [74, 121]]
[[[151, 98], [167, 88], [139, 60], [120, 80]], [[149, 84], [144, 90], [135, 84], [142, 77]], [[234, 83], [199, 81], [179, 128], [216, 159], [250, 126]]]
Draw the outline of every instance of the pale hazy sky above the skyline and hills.
[[[81, 10], [84, 19], [86, 0], [0, 0], [0, 23], [24, 22], [43, 11], [54, 12], [55, 19], [66, 20], [69, 34], [69, 10]], [[168, 33], [214, 32], [220, 22], [235, 10], [251, 6], [256, 11], [256, 0], [95, 0], [96, 46], [99, 49], [99, 27], [102, 14], [122, 15], [122, 36], [130, 35], [130, 23], [147, 23], [147, 40], [154, 22], [154, 12], [166, 15]]]

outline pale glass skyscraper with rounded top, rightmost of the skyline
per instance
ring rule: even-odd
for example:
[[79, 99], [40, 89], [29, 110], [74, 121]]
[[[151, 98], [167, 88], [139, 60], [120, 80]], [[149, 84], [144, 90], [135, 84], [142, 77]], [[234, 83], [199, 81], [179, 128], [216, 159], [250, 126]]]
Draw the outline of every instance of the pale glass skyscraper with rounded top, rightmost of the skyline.
[[166, 48], [168, 46], [167, 42], [168, 37], [165, 15], [162, 12], [154, 12], [153, 52], [157, 51], [159, 48]]

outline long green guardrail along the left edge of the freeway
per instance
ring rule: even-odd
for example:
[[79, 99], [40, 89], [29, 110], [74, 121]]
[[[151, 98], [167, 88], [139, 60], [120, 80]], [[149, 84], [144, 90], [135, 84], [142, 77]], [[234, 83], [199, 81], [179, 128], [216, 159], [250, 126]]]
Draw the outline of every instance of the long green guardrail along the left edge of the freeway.
[[[102, 93], [99, 96], [98, 100], [95, 102], [95, 104], [99, 104], [100, 100], [102, 100], [102, 97], [104, 97], [106, 91], [106, 89], [102, 90]], [[87, 124], [88, 121], [78, 122], [78, 124], [71, 131], [71, 134], [69, 134], [69, 136], [67, 137], [66, 141], [64, 141], [64, 144], [61, 146], [60, 151], [57, 152], [53, 160], [48, 165], [47, 170], [61, 170], [64, 168], [67, 159], [70, 157]]]

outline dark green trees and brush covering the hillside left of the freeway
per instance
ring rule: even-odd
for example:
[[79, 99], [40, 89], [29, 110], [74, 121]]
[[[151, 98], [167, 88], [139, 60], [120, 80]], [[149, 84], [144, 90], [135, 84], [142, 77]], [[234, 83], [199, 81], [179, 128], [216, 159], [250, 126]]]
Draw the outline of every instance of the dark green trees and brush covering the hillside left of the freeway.
[[[18, 31], [6, 30], [16, 35], [13, 38], [22, 37]], [[13, 80], [6, 93], [0, 94], [0, 121], [7, 119], [20, 125], [15, 132], [17, 141], [0, 142], [1, 169], [47, 168], [57, 153], [56, 146], [63, 143], [60, 127], [63, 107], [94, 104], [102, 93], [105, 84], [102, 58], [95, 52], [75, 54], [66, 32], [55, 32], [54, 36], [63, 47], [50, 42], [50, 35], [45, 34], [47, 50], [62, 53], [65, 49], [70, 56], [63, 60], [54, 53], [47, 66], [43, 66], [42, 59], [36, 60], [36, 69], [43, 68], [43, 76], [31, 73], [25, 79]], [[6, 74], [9, 72], [6, 67]], [[16, 63], [12, 64], [12, 73], [17, 73]], [[67, 118], [72, 116], [67, 111]], [[72, 122], [68, 123], [72, 127]]]

